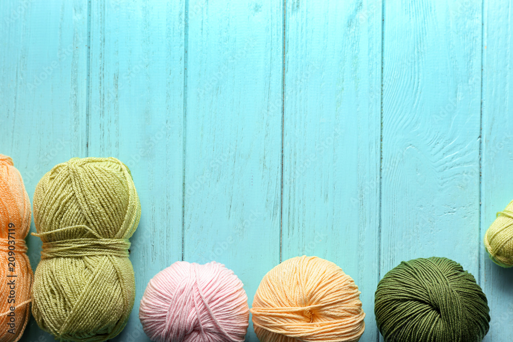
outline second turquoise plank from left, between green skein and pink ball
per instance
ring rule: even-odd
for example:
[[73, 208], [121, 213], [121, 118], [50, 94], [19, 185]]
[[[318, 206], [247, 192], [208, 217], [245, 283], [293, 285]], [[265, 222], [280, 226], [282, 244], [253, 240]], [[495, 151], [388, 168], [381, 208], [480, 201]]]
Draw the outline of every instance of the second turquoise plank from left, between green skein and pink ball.
[[135, 305], [115, 340], [148, 340], [139, 302], [182, 257], [185, 2], [93, 2], [89, 156], [130, 168], [142, 216], [131, 242]]

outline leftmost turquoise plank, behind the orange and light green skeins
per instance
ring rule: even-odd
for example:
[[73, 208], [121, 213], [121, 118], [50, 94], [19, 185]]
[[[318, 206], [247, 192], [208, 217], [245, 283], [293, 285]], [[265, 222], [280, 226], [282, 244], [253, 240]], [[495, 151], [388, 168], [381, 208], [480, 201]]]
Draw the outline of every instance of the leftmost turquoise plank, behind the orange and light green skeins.
[[[85, 156], [87, 1], [2, 1], [0, 13], [0, 153], [13, 158], [32, 202], [55, 164]], [[35, 269], [41, 240], [29, 235], [27, 245]], [[31, 318], [22, 341], [38, 338], [53, 339]]]

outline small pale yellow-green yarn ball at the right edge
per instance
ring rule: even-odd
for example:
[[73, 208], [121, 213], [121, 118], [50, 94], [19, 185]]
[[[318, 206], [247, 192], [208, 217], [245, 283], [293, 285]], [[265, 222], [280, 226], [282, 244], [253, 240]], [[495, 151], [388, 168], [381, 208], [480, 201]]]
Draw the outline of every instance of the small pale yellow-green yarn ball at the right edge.
[[497, 213], [497, 218], [484, 236], [490, 259], [499, 266], [513, 266], [513, 201]]

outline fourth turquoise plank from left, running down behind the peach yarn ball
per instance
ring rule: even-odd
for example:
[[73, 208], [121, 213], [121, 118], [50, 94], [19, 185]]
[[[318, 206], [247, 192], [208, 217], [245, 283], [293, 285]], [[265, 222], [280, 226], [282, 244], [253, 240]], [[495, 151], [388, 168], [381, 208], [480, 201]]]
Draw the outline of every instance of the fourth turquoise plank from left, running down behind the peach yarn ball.
[[283, 260], [317, 255], [359, 286], [375, 341], [379, 279], [380, 1], [287, 2]]

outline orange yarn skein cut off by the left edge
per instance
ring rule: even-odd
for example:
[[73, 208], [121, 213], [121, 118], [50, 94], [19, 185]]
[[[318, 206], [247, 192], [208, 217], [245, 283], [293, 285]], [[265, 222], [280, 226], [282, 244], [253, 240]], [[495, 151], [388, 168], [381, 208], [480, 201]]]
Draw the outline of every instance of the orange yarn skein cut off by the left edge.
[[22, 337], [30, 316], [32, 268], [25, 237], [30, 202], [12, 159], [0, 154], [0, 341]]

